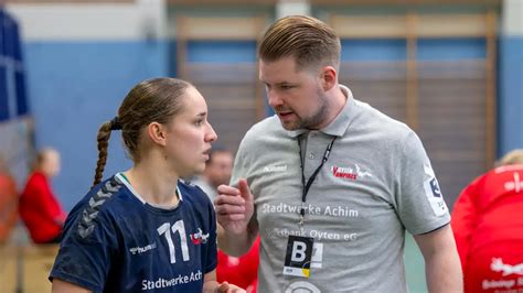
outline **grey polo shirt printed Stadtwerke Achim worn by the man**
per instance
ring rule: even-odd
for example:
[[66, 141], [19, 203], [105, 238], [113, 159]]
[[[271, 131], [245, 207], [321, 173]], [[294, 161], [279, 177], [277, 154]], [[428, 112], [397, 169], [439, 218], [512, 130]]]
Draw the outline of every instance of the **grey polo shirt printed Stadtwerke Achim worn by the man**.
[[[239, 145], [231, 182], [247, 178], [255, 197], [259, 292], [406, 292], [405, 229], [418, 235], [450, 220], [418, 137], [341, 88], [346, 104], [324, 129], [287, 131], [274, 116]], [[297, 140], [307, 180], [333, 137], [305, 205], [305, 236], [314, 238], [310, 278], [284, 275], [288, 236], [300, 234]]]

